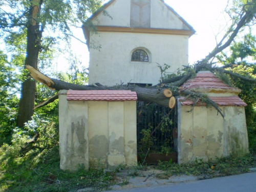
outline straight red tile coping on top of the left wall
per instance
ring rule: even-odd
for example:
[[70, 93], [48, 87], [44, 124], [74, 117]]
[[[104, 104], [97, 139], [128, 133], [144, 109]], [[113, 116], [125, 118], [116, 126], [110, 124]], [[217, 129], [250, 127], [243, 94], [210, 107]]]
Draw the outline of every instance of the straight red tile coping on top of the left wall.
[[131, 90], [69, 90], [69, 101], [127, 101], [137, 100], [136, 92]]

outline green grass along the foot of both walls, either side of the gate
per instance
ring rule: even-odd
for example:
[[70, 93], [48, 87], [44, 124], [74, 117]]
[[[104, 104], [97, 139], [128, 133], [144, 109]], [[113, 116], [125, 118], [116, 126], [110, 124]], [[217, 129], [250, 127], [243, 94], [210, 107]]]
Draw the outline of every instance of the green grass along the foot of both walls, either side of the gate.
[[[85, 187], [94, 191], [107, 190], [115, 184], [128, 184], [129, 177], [137, 176], [141, 168], [138, 166], [127, 178], [120, 180], [116, 173], [124, 168], [123, 165], [113, 172], [104, 172], [100, 164], [90, 170], [80, 166], [76, 172], [69, 172], [60, 170], [59, 163], [58, 145], [42, 151], [30, 150], [26, 154], [20, 152], [19, 145], [3, 145], [0, 147], [0, 191], [76, 191]], [[183, 165], [159, 162], [154, 168], [164, 170], [159, 178], [185, 174], [206, 179], [246, 173], [252, 166], [256, 166], [255, 155], [248, 154], [229, 156], [215, 163], [200, 160]]]

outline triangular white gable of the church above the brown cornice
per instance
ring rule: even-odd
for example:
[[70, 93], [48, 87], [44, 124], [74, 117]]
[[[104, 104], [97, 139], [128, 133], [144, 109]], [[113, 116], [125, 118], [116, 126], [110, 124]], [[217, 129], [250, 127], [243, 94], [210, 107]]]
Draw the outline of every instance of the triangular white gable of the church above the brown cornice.
[[[103, 12], [108, 12], [106, 16]], [[185, 20], [162, 0], [112, 0], [91, 17], [96, 26], [189, 30]]]

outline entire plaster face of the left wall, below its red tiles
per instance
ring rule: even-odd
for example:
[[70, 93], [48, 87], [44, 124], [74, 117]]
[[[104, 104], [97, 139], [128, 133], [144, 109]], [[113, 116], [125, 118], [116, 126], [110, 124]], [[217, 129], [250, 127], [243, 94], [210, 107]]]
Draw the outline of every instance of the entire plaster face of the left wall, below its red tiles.
[[67, 91], [60, 93], [61, 169], [136, 165], [136, 101], [67, 101]]

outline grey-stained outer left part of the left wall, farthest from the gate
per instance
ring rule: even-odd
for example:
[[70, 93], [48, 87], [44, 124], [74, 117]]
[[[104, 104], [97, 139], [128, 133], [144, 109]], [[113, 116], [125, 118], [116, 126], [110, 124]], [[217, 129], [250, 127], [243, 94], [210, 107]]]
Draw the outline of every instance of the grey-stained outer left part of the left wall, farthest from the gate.
[[87, 102], [68, 102], [67, 95], [59, 95], [59, 103], [60, 168], [89, 168]]

